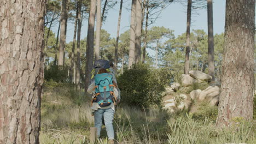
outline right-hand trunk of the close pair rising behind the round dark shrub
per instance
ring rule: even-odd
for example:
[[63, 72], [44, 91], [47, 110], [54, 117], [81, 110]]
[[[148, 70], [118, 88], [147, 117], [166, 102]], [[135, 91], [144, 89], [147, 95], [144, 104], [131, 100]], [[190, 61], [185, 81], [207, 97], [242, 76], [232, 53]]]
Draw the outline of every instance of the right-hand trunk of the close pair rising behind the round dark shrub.
[[141, 61], [141, 0], [136, 2], [135, 63]]

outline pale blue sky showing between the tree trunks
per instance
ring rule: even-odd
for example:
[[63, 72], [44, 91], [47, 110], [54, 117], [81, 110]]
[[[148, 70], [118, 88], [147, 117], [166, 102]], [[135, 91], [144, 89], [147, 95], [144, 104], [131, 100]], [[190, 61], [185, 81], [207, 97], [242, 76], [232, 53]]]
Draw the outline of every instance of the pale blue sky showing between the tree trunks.
[[[115, 38], [117, 35], [117, 23], [119, 14], [118, 2], [113, 9], [110, 9], [107, 15], [107, 20], [103, 23], [102, 28], [110, 33], [110, 37]], [[124, 8], [121, 17], [120, 33], [125, 32], [129, 29], [130, 25], [130, 11], [126, 8], [131, 8], [131, 1], [124, 0]], [[160, 15], [160, 18], [155, 21], [152, 26], [164, 26], [174, 30], [174, 35], [182, 34], [186, 31], [187, 22], [187, 8], [179, 3], [172, 3], [166, 9], [164, 9]], [[192, 29], [203, 29], [207, 32], [207, 10], [198, 10], [199, 15], [193, 15], [191, 20], [191, 30]], [[225, 25], [225, 1], [224, 0], [214, 0], [213, 1], [213, 31], [214, 33], [224, 32]], [[83, 20], [82, 35], [81, 38], [84, 39], [87, 34], [88, 20]], [[95, 27], [96, 30], [96, 27]], [[57, 25], [54, 26], [53, 31], [57, 32]], [[67, 27], [67, 43], [72, 41], [74, 33], [73, 22], [68, 22]]]

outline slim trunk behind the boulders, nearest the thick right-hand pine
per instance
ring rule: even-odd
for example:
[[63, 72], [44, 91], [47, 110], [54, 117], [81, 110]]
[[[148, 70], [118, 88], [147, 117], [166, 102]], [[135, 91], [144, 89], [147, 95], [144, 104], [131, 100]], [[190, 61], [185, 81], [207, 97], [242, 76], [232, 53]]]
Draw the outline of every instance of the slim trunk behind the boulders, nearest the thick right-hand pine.
[[208, 74], [212, 76], [210, 81], [214, 81], [214, 39], [213, 39], [213, 11], [212, 0], [207, 0], [207, 21], [208, 21]]

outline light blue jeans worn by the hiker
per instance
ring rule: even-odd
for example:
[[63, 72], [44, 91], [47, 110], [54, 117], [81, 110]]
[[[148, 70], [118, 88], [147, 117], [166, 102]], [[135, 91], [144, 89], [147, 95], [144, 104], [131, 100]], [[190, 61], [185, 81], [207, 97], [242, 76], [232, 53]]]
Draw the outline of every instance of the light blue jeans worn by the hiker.
[[114, 128], [113, 128], [113, 118], [115, 111], [111, 108], [109, 109], [98, 109], [94, 112], [94, 124], [97, 128], [97, 135], [100, 137], [101, 135], [101, 125], [102, 125], [102, 117], [104, 116], [104, 122], [106, 125], [106, 130], [108, 134], [109, 140], [114, 140]]

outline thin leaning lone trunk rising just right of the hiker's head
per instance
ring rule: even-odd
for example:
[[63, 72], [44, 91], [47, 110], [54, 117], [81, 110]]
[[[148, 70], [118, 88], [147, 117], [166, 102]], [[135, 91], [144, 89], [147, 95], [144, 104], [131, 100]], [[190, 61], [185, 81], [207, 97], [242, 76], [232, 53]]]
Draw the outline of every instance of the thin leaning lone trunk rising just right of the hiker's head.
[[121, 2], [120, 2], [120, 9], [119, 9], [119, 16], [118, 16], [117, 41], [115, 42], [115, 57], [114, 57], [115, 71], [117, 71], [117, 65], [118, 65], [118, 42], [119, 42], [119, 30], [120, 30], [120, 22], [121, 22], [121, 15], [122, 15], [122, 7], [123, 7], [123, 0], [121, 0]]

